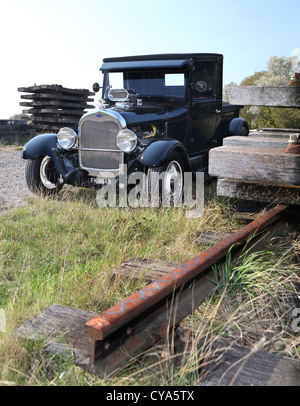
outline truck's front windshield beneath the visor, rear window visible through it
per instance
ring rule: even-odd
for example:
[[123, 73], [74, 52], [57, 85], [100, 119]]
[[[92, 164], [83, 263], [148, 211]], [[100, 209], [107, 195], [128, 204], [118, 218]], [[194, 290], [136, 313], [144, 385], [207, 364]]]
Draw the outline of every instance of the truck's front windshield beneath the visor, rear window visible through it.
[[187, 75], [184, 72], [107, 72], [104, 77], [103, 98], [110, 89], [126, 89], [140, 97], [185, 98]]

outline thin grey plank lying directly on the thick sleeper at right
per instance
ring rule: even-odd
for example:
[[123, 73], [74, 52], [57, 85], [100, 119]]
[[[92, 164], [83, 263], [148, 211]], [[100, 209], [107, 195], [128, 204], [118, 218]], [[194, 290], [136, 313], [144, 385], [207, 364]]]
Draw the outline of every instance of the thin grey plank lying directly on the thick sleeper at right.
[[279, 148], [285, 151], [288, 146], [288, 137], [226, 137], [223, 140], [224, 146], [251, 147], [251, 148]]

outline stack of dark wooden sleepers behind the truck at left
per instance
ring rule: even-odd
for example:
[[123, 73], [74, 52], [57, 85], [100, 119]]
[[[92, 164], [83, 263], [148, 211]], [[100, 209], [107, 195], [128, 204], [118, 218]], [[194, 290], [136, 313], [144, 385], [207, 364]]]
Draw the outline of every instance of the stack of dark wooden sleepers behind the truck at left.
[[37, 130], [58, 131], [62, 127], [77, 130], [85, 110], [93, 108], [95, 93], [87, 89], [69, 89], [61, 85], [20, 87], [20, 106], [29, 107], [23, 113], [31, 114], [32, 125]]

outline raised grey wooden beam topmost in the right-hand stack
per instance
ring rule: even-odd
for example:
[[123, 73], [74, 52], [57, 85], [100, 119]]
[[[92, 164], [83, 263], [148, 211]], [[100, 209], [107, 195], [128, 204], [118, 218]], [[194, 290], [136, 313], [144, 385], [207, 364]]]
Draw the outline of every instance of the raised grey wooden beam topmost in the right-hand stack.
[[285, 86], [233, 86], [229, 103], [244, 106], [300, 107], [300, 88]]

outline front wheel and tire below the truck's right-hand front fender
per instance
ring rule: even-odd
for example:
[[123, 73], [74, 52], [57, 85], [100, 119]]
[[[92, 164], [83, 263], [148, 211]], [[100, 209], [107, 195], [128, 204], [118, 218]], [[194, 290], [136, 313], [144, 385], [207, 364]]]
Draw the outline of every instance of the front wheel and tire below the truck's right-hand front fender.
[[183, 160], [180, 154], [173, 153], [163, 166], [148, 169], [146, 178], [148, 203], [152, 207], [181, 206], [183, 181]]

